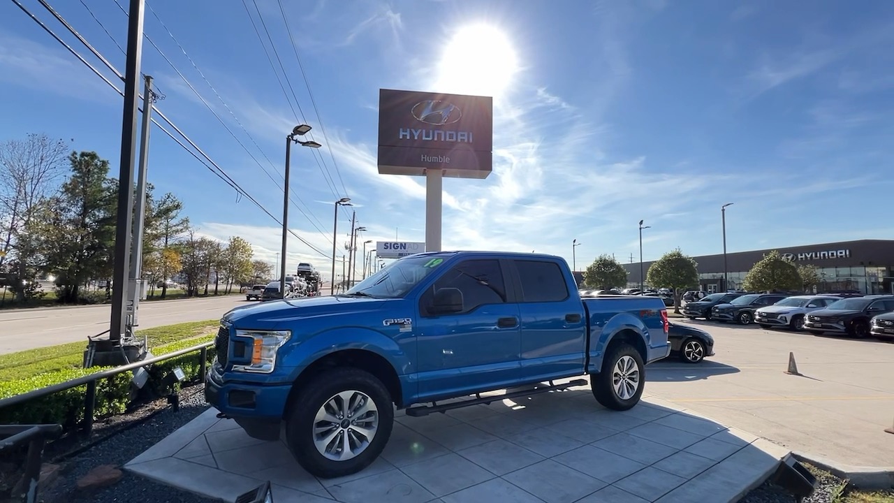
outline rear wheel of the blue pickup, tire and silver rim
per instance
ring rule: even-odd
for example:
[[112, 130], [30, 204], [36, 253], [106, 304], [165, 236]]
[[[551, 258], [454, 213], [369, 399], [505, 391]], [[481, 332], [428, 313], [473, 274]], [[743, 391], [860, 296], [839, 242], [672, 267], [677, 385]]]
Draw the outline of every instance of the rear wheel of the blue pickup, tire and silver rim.
[[639, 403], [645, 387], [643, 357], [632, 345], [622, 343], [611, 348], [603, 359], [603, 369], [590, 374], [593, 396], [603, 407], [626, 411]]

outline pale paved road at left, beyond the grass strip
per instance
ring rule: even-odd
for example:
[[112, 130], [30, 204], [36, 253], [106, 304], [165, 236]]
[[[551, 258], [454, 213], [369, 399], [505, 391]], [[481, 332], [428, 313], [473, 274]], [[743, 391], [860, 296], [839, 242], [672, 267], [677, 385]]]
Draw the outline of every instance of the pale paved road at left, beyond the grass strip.
[[[226, 295], [141, 303], [139, 328], [214, 320], [245, 302], [240, 295]], [[0, 311], [0, 354], [86, 341], [108, 328], [111, 315], [112, 306], [108, 304]]]

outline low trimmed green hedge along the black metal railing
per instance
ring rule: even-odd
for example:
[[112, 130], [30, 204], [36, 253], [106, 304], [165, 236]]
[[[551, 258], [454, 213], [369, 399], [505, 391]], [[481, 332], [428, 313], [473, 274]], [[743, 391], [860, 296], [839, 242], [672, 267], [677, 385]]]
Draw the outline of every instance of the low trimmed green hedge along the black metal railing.
[[[212, 337], [198, 337], [160, 345], [152, 349], [155, 356], [173, 353], [192, 345], [198, 345], [211, 340]], [[166, 395], [169, 390], [164, 389], [162, 381], [168, 372], [174, 367], [181, 367], [187, 381], [202, 379], [198, 375], [201, 358], [198, 351], [191, 354], [183, 354], [158, 362], [148, 367], [149, 379], [141, 393], [134, 397], [131, 394], [132, 372], [122, 372], [114, 377], [97, 381], [97, 402], [94, 408], [94, 419], [108, 417], [123, 413], [134, 399], [156, 397]], [[210, 365], [215, 357], [214, 346], [207, 348], [207, 364]], [[46, 372], [23, 379], [10, 379], [0, 382], [0, 399], [9, 396], [21, 395], [34, 389], [46, 388], [66, 380], [76, 379], [98, 371], [104, 371], [110, 367], [91, 369], [64, 369]], [[84, 419], [84, 398], [87, 386], [71, 388], [49, 396], [42, 396], [30, 400], [24, 404], [0, 408], [0, 424], [39, 424], [59, 423], [65, 431], [71, 431]]]

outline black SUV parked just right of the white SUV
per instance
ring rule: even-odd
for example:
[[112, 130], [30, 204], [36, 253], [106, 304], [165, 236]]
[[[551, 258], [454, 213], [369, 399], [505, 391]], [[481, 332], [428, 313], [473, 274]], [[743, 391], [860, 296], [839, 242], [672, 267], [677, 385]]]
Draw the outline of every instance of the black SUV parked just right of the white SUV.
[[814, 336], [833, 333], [863, 338], [869, 335], [869, 320], [873, 316], [891, 311], [894, 311], [894, 295], [839, 299], [826, 309], [808, 314], [804, 327]]

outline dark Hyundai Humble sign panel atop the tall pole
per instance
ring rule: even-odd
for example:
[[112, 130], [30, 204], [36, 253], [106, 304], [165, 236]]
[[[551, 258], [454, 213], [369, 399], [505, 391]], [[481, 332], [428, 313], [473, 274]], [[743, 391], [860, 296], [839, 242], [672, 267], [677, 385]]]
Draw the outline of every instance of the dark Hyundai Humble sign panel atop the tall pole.
[[486, 178], [493, 169], [493, 98], [379, 90], [379, 173]]

